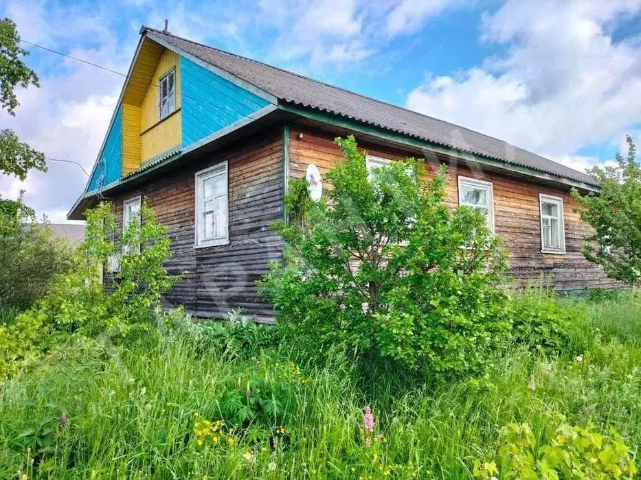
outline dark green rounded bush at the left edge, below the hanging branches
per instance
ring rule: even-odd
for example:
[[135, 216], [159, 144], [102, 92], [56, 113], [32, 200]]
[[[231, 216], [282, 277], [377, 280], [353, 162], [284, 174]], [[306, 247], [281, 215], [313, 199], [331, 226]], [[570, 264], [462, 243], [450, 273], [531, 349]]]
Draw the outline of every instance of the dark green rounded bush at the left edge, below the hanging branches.
[[37, 223], [22, 197], [0, 200], [0, 306], [26, 308], [71, 268], [71, 248]]

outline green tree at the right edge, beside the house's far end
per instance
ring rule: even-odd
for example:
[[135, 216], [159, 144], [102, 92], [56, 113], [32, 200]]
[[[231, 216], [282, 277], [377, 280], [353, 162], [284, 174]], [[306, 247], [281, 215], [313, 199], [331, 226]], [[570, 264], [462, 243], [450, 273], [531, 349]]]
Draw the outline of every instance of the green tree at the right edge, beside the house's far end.
[[583, 245], [585, 258], [603, 267], [610, 278], [641, 285], [641, 168], [636, 147], [626, 136], [628, 154], [616, 165], [594, 167], [598, 194], [572, 196], [581, 204], [581, 219], [594, 228]]

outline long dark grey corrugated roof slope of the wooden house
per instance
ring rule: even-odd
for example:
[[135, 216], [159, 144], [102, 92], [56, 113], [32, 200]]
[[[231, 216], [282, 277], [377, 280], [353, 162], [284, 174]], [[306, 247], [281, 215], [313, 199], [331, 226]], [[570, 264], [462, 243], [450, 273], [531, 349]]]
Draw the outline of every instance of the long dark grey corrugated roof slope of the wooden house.
[[565, 165], [548, 160], [548, 158], [543, 158], [468, 128], [386, 104], [383, 101], [363, 97], [363, 95], [346, 91], [343, 88], [318, 82], [303, 75], [271, 67], [262, 62], [213, 47], [207, 47], [168, 32], [143, 27], [141, 32], [145, 31], [191, 53], [204, 62], [240, 77], [245, 82], [277, 97], [280, 101], [340, 115], [463, 152], [505, 160], [515, 165], [596, 185], [595, 179], [587, 173], [565, 167]]

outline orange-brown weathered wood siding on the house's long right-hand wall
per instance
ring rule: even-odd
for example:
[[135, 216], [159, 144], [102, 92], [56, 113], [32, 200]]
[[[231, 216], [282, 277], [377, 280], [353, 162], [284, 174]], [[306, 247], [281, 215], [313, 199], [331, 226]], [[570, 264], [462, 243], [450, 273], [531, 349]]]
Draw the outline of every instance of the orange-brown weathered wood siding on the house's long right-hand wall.
[[[303, 134], [302, 139], [300, 133]], [[392, 160], [422, 156], [416, 152], [403, 152], [367, 143], [360, 146], [374, 156]], [[321, 173], [325, 173], [341, 158], [339, 148], [333, 143], [333, 135], [305, 128], [291, 128], [289, 171], [292, 178], [302, 178], [310, 163], [315, 164]], [[449, 165], [447, 197], [452, 208], [458, 205], [458, 176], [493, 183], [495, 232], [504, 240], [504, 248], [510, 256], [510, 274], [519, 283], [543, 280], [563, 291], [616, 285], [603, 274], [600, 267], [583, 258], [581, 243], [589, 232], [589, 226], [583, 224], [578, 213], [574, 212], [577, 204], [570, 197], [568, 189], [510, 177], [506, 173], [484, 171], [480, 166], [471, 168], [457, 162], [455, 158], [446, 157], [429, 159], [428, 176], [434, 175], [439, 163]], [[541, 252], [539, 193], [563, 198], [565, 254]]]

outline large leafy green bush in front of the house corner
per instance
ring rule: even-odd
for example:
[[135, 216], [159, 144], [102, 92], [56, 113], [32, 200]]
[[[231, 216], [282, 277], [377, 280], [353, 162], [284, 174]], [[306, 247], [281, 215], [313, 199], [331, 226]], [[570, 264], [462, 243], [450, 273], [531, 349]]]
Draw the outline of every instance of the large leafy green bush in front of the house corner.
[[261, 287], [279, 328], [309, 352], [341, 345], [409, 370], [478, 374], [509, 326], [499, 239], [473, 209], [449, 211], [445, 167], [423, 182], [410, 158], [368, 179], [354, 138], [336, 143], [345, 160], [326, 173], [324, 200], [306, 204], [308, 226], [275, 225], [291, 261]]

